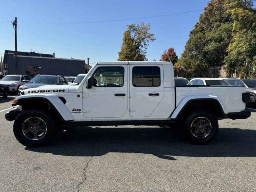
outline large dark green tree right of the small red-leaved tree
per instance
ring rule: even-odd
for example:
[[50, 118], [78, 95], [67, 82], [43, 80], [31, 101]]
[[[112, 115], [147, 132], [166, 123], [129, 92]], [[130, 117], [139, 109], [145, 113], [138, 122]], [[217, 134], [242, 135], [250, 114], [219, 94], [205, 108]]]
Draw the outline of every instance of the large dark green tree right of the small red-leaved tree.
[[211, 0], [190, 32], [178, 65], [192, 70], [220, 67], [232, 38], [231, 17], [224, 0]]

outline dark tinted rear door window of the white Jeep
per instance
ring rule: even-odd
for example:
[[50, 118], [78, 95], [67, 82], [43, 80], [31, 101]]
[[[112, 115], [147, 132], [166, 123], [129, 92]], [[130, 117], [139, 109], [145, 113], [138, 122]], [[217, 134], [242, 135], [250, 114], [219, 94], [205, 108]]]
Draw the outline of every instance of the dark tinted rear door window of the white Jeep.
[[160, 68], [159, 67], [133, 67], [132, 85], [135, 87], [160, 86]]

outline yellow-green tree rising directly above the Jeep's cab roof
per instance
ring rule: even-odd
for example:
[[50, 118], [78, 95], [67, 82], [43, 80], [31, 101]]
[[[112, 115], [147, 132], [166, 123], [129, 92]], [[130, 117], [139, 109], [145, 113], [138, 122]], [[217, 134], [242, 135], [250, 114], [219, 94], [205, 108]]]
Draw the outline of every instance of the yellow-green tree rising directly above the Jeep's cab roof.
[[118, 52], [118, 61], [144, 61], [146, 59], [146, 50], [150, 42], [154, 42], [154, 34], [150, 33], [150, 24], [128, 25], [124, 32], [124, 38], [120, 52]]

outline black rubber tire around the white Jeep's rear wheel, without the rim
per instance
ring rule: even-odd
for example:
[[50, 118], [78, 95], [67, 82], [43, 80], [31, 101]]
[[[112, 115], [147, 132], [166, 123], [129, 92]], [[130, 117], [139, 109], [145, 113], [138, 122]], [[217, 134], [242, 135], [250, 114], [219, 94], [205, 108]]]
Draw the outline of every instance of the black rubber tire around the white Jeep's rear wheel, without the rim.
[[[198, 138], [196, 136], [194, 136], [194, 134], [192, 133], [192, 123], [194, 122], [194, 120], [198, 119], [198, 118], [206, 118], [207, 120], [210, 121], [211, 124], [211, 130], [208, 133], [207, 136], [203, 137], [203, 138]], [[216, 116], [210, 112], [210, 111], [206, 111], [206, 110], [198, 110], [195, 112], [192, 112], [185, 120], [184, 122], [184, 134], [186, 136], [186, 138], [188, 139], [188, 141], [194, 143], [194, 144], [206, 144], [208, 142], [210, 142], [212, 140], [212, 138], [217, 134], [218, 132], [218, 120], [216, 118]]]

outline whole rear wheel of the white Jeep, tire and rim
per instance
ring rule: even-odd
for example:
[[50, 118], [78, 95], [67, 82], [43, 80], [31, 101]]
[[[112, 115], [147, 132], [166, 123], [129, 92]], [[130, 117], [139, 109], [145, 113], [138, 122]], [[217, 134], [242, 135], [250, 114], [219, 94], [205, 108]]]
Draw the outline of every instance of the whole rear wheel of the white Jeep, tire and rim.
[[184, 122], [186, 138], [196, 144], [204, 144], [212, 140], [218, 128], [216, 116], [206, 110], [192, 112]]

